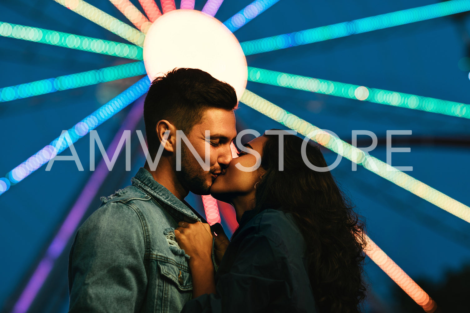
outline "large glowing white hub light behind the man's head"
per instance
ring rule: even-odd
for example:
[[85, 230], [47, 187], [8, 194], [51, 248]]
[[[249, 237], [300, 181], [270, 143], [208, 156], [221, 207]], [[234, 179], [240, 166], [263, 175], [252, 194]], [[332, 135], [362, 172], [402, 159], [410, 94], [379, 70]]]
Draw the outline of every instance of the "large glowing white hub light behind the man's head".
[[235, 35], [218, 19], [196, 10], [172, 10], [157, 18], [144, 40], [150, 80], [188, 67], [208, 72], [235, 88], [240, 100], [248, 77], [246, 58]]

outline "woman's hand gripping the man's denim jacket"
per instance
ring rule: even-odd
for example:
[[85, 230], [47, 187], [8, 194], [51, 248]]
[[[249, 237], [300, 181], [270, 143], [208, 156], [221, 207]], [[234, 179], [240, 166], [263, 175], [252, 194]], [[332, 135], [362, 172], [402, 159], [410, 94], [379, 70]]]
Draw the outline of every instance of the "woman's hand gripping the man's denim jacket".
[[180, 221], [175, 229], [176, 242], [189, 258], [188, 264], [212, 263], [212, 233], [209, 224]]

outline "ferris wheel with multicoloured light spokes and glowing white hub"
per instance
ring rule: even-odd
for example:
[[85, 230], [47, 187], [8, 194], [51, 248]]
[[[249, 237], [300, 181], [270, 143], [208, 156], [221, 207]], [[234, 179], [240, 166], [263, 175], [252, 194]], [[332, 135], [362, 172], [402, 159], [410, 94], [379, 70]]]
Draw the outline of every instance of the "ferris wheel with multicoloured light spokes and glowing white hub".
[[[261, 97], [249, 90], [247, 85], [248, 82], [253, 82], [342, 99], [354, 99], [358, 102], [374, 103], [377, 106], [386, 105], [410, 111], [425, 111], [468, 119], [470, 118], [469, 104], [380, 89], [374, 86], [297, 75], [293, 72], [277, 69], [276, 64], [272, 64], [269, 68], [254, 67], [251, 66], [249, 58], [247, 61], [247, 56], [273, 54], [277, 50], [291, 47], [456, 15], [470, 11], [470, 1], [450, 0], [247, 41], [240, 41], [236, 31], [257, 16], [268, 15], [269, 8], [279, 0], [255, 0], [240, 8], [238, 12], [234, 12], [234, 15], [226, 20], [217, 18], [217, 12], [223, 5], [223, 0], [207, 0], [204, 5], [201, 4], [201, 10], [195, 9], [194, 0], [181, 0], [180, 3], [175, 3], [174, 0], [161, 0], [158, 5], [155, 0], [139, 0], [139, 6], [136, 1], [133, 3], [129, 0], [109, 0], [121, 12], [119, 14], [119, 16], [122, 15], [121, 19], [84, 0], [54, 1], [55, 5], [63, 6], [62, 9], [66, 14], [73, 12], [74, 15], [87, 19], [87, 23], [97, 24], [113, 34], [112, 36], [118, 36], [122, 40], [105, 40], [94, 37], [93, 32], [85, 36], [46, 27], [13, 23], [14, 21], [0, 21], [0, 36], [28, 42], [31, 49], [34, 49], [34, 45], [40, 44], [58, 46], [80, 51], [80, 53], [117, 57], [125, 60], [125, 63], [94, 70], [71, 72], [62, 76], [44, 77], [34, 81], [24, 77], [22, 83], [0, 87], [0, 104], [13, 103], [17, 99], [33, 99], [33, 97], [44, 94], [56, 94], [63, 90], [109, 83], [124, 78], [133, 79], [132, 84], [126, 86], [125, 90], [118, 90], [116, 94], [112, 95], [111, 100], [103, 100], [96, 110], [82, 115], [74, 113], [76, 122], [70, 125], [68, 130], [58, 130], [61, 134], [54, 140], [44, 142], [39, 151], [23, 160], [18, 160], [13, 168], [8, 169], [5, 177], [0, 178], [0, 197], [3, 196], [2, 194], [7, 195], [10, 189], [22, 188], [22, 181], [28, 180], [28, 176], [43, 165], [46, 167], [46, 171], [47, 168], [50, 169], [54, 160], [60, 160], [61, 153], [65, 149], [74, 149], [74, 143], [86, 134], [112, 119], [119, 112], [128, 110], [126, 119], [112, 140], [109, 150], [107, 149], [115, 151], [122, 131], [136, 129], [141, 118], [139, 112], [143, 105], [141, 96], [147, 92], [151, 79], [175, 67], [191, 67], [205, 70], [215, 78], [228, 82], [234, 86], [240, 103], [251, 108], [250, 110], [296, 131], [299, 135], [316, 141], [336, 153], [337, 160], [344, 157], [350, 160], [354, 166], [360, 165], [365, 170], [387, 180], [389, 184], [395, 184], [422, 198], [422, 201], [432, 203], [440, 209], [470, 222], [470, 208], [467, 205], [415, 179], [411, 173], [407, 173], [409, 169], [392, 166], [389, 162], [369, 155], [369, 150], [357, 148], [357, 144], [346, 142], [340, 139], [336, 133], [324, 130], [306, 118], [304, 119], [301, 114], [294, 114], [290, 108], [276, 104], [275, 97], [273, 99]], [[38, 10], [40, 11], [40, 9]], [[265, 11], [267, 12], [265, 13]], [[83, 32], [80, 31], [80, 33]], [[315, 106], [314, 103], [313, 106]], [[370, 132], [363, 131], [359, 134], [371, 136]], [[122, 144], [119, 147], [121, 146]], [[65, 156], [62, 157], [63, 160], [67, 159]], [[108, 161], [110, 160], [108, 159]], [[63, 253], [88, 209], [91, 200], [87, 202], [86, 198], [90, 198], [90, 194], [93, 194], [91, 190], [96, 193], [100, 184], [105, 180], [107, 174], [103, 169], [104, 167], [98, 165], [96, 171], [87, 181], [86, 186], [89, 188], [84, 188], [87, 192], [83, 191], [78, 195], [38, 266], [29, 275], [27, 282], [24, 283], [15, 298], [16, 300], [11, 304], [11, 312], [27, 312], [31, 303], [35, 301], [56, 259]], [[209, 223], [230, 219], [224, 215], [224, 209], [219, 208], [220, 203], [211, 196], [203, 196], [202, 202]], [[225, 222], [230, 227], [230, 222], [227, 220]], [[386, 251], [380, 249], [369, 237], [367, 238], [369, 248], [366, 251], [367, 255], [418, 305], [422, 306], [424, 311], [434, 312], [439, 304], [436, 304], [425, 290], [388, 257]]]

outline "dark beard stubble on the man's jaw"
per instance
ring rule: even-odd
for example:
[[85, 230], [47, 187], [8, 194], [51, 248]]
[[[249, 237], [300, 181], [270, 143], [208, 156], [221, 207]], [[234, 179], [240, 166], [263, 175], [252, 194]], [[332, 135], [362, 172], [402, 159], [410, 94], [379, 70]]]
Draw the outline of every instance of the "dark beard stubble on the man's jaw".
[[188, 147], [181, 145], [181, 171], [176, 171], [180, 184], [196, 195], [209, 195], [211, 186], [207, 184], [205, 174]]

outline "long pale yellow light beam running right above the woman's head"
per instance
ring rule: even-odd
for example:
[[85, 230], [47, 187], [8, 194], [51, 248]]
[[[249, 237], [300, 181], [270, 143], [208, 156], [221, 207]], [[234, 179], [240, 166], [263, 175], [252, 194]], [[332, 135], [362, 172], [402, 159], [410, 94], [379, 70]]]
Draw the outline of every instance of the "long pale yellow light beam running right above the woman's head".
[[[439, 208], [457, 216], [460, 219], [470, 223], [470, 207], [457, 200], [443, 194], [442, 192], [426, 185], [425, 183], [416, 180], [408, 174], [397, 170], [396, 168], [386, 164], [385, 162], [377, 159], [376, 157], [366, 156], [366, 154], [359, 148], [356, 148], [349, 143], [342, 141], [336, 136], [328, 132], [322, 131], [320, 128], [308, 123], [300, 117], [283, 110], [281, 107], [267, 101], [266, 99], [252, 93], [245, 89], [245, 92], [240, 99], [249, 107], [258, 112], [274, 119], [297, 131], [298, 133], [308, 136], [313, 141], [318, 142], [322, 146], [330, 149], [331, 151], [351, 160], [354, 163], [364, 166], [371, 172], [383, 177], [386, 180], [398, 185], [401, 188], [423, 198], [424, 200], [438, 206]], [[312, 137], [312, 132], [316, 135]]]

